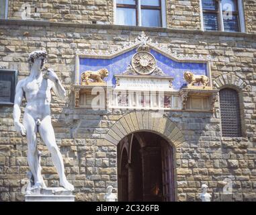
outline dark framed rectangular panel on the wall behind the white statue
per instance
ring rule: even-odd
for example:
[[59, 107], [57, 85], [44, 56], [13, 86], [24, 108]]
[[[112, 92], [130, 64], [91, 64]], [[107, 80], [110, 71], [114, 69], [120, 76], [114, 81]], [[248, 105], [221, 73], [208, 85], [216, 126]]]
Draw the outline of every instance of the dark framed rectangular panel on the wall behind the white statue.
[[16, 70], [0, 69], [0, 105], [13, 104], [16, 83]]

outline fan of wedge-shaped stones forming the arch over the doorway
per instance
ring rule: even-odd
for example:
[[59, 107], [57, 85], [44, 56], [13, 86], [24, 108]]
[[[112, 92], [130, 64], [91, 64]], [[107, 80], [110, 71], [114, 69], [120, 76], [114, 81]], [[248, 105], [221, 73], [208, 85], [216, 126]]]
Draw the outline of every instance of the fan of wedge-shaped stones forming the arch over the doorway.
[[117, 145], [122, 138], [138, 131], [150, 131], [165, 138], [177, 147], [185, 138], [177, 126], [166, 117], [153, 118], [154, 112], [131, 112], [118, 120], [105, 135], [105, 139]]

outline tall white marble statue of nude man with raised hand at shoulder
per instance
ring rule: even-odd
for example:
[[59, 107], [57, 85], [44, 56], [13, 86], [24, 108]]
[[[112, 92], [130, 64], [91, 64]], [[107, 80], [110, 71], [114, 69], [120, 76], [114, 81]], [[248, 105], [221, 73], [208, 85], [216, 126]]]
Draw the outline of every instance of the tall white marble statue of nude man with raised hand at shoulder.
[[[60, 185], [70, 191], [74, 186], [67, 181], [62, 155], [56, 144], [54, 130], [50, 117], [51, 90], [61, 99], [65, 99], [65, 89], [60, 79], [52, 69], [48, 69], [42, 75], [41, 69], [47, 57], [45, 51], [34, 51], [28, 58], [30, 75], [20, 80], [16, 86], [15, 101], [13, 107], [13, 121], [17, 132], [26, 136], [28, 140], [28, 165], [34, 177], [34, 187], [44, 187], [44, 181], [40, 173], [38, 163], [38, 150], [36, 135], [40, 137], [50, 150], [52, 162], [60, 177]], [[25, 97], [27, 105], [24, 112], [23, 124], [19, 122], [21, 116], [20, 105]]]

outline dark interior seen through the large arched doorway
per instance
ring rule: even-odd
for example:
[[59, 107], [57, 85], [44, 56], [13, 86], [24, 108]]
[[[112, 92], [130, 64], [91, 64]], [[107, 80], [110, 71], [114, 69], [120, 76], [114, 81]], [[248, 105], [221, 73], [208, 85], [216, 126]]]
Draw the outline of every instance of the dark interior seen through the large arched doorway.
[[173, 153], [152, 132], [136, 132], [118, 144], [118, 200], [174, 201]]

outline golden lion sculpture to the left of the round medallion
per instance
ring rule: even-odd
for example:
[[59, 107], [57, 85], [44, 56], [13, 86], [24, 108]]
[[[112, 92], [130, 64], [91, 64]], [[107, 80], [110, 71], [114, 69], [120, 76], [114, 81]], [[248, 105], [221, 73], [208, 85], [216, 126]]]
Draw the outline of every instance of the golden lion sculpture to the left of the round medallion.
[[108, 69], [99, 69], [98, 71], [85, 71], [81, 74], [82, 85], [93, 83], [104, 83], [103, 79], [108, 77]]

